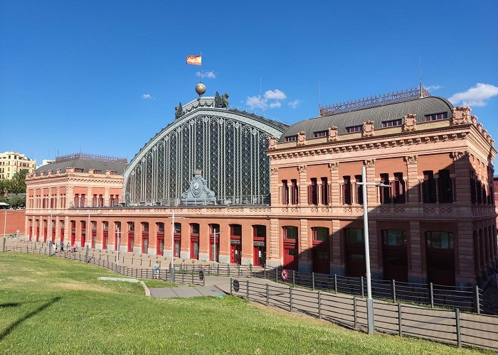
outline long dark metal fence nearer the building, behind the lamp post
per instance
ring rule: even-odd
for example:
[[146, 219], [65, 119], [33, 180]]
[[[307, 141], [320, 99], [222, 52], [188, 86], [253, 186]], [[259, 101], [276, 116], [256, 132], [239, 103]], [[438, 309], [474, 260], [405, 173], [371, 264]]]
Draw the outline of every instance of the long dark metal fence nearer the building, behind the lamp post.
[[[29, 242], [34, 249], [48, 249], [50, 243]], [[86, 249], [80, 249], [85, 251]], [[112, 250], [99, 251], [89, 249], [89, 255], [105, 261], [117, 261], [117, 252]], [[82, 253], [81, 251], [76, 252]], [[83, 255], [85, 255], [83, 253]], [[157, 256], [156, 256], [157, 257]], [[161, 260], [162, 258], [162, 260]], [[161, 256], [157, 259], [159, 267], [163, 268], [166, 258]], [[152, 268], [154, 260], [147, 254], [129, 256], [120, 254], [120, 263], [129, 263], [139, 268]], [[169, 262], [168, 262], [169, 264]], [[354, 278], [341, 275], [326, 275], [321, 273], [302, 273], [299, 271], [287, 271], [287, 279], [282, 278], [282, 268], [266, 268], [253, 265], [238, 264], [175, 264], [175, 270], [179, 272], [192, 273], [191, 268], [202, 268], [205, 275], [226, 276], [226, 277], [246, 277], [264, 278], [277, 283], [286, 283], [292, 286], [302, 286], [311, 290], [331, 290], [334, 293], [344, 293], [349, 295], [366, 295], [366, 278]], [[198, 271], [196, 271], [198, 272]], [[445, 307], [467, 312], [481, 314], [483, 310], [483, 290], [474, 287], [455, 288], [453, 286], [434, 285], [433, 283], [403, 283], [396, 280], [371, 280], [372, 295], [381, 300], [391, 300], [391, 302], [413, 302], [418, 305], [427, 305], [431, 308]]]

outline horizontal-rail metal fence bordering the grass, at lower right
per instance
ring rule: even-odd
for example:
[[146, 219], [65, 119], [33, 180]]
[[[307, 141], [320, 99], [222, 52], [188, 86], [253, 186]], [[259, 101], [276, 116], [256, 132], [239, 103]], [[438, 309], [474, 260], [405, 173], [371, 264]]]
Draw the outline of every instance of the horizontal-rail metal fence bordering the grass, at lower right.
[[[351, 329], [366, 330], [366, 298], [307, 290], [261, 280], [231, 278], [231, 295], [329, 320]], [[449, 344], [477, 346], [498, 351], [498, 317], [456, 310], [429, 309], [416, 305], [375, 300], [375, 329]]]

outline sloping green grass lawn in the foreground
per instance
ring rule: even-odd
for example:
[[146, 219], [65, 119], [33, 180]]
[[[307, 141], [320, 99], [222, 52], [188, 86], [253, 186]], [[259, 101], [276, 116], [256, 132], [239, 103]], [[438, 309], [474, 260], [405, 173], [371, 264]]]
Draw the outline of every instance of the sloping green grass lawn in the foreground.
[[472, 353], [370, 337], [236, 297], [161, 300], [139, 284], [97, 280], [112, 275], [78, 261], [0, 253], [0, 354]]

